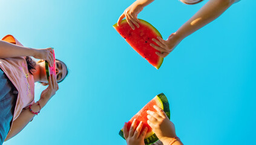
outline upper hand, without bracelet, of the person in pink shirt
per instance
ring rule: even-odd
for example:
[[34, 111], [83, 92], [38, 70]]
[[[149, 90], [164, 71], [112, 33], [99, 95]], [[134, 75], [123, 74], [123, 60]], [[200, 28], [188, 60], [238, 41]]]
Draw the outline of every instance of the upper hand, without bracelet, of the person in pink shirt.
[[53, 66], [53, 48], [45, 48], [45, 49], [36, 49], [33, 57], [35, 59], [43, 59], [46, 60], [50, 66]]

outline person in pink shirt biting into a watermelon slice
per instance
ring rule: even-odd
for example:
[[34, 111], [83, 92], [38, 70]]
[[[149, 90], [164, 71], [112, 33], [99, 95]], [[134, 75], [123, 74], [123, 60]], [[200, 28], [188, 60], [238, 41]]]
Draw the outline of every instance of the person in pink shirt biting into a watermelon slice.
[[[67, 76], [65, 63], [56, 61], [56, 75], [50, 75], [47, 80], [45, 60], [53, 66], [52, 51], [52, 48], [23, 47], [11, 35], [0, 40], [0, 145], [21, 132], [39, 114], [59, 89], [57, 83]], [[34, 62], [30, 56], [43, 61]], [[36, 103], [35, 82], [48, 85]]]

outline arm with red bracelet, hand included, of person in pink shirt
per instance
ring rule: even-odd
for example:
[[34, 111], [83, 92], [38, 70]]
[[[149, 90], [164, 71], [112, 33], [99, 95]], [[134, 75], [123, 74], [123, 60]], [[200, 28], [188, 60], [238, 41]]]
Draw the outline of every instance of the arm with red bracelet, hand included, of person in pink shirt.
[[[52, 75], [49, 76], [49, 86], [44, 91], [42, 91], [40, 100], [38, 101], [42, 108], [47, 104], [50, 98], [53, 97], [58, 89], [59, 86], [57, 85], [56, 77], [53, 77]], [[37, 103], [34, 103], [31, 106], [31, 109], [33, 112], [38, 112], [40, 108]], [[21, 130], [24, 129], [25, 126], [27, 126], [27, 124], [33, 119], [33, 117], [34, 114], [30, 112], [30, 109], [24, 109], [21, 114], [19, 114], [19, 117], [16, 118], [15, 121], [13, 121], [11, 130], [5, 138], [5, 141], [19, 134], [19, 132], [21, 132]]]

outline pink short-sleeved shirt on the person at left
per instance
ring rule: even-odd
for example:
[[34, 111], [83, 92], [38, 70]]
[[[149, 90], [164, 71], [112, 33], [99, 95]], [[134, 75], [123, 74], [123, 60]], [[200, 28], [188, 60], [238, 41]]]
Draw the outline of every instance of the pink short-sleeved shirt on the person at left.
[[[11, 35], [5, 36], [2, 40], [23, 46]], [[18, 98], [13, 114], [14, 121], [21, 114], [23, 108], [27, 108], [34, 103], [34, 77], [28, 72], [25, 57], [0, 59], [0, 68], [18, 90]]]

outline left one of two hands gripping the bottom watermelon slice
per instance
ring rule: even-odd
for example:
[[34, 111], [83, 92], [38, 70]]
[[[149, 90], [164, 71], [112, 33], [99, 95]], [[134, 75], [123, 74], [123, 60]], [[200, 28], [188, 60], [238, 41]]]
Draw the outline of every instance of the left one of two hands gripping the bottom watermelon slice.
[[[123, 136], [125, 137], [127, 145], [145, 145], [144, 138], [146, 137], [148, 128], [145, 127], [145, 129], [142, 130], [142, 121], [140, 121], [139, 126], [136, 128], [136, 123], [137, 120], [134, 119], [129, 131], [127, 130], [127, 123], [123, 126]], [[140, 134], [140, 132], [142, 133]]]

